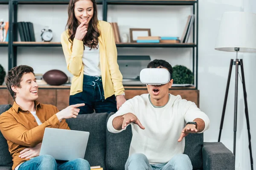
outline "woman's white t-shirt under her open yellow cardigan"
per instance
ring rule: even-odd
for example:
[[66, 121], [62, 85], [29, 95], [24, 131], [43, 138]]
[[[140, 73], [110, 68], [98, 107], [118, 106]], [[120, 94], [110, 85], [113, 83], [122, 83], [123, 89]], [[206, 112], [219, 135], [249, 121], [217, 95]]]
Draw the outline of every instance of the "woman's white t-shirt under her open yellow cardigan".
[[[99, 44], [98, 44], [99, 46]], [[101, 76], [99, 48], [92, 48], [84, 45], [84, 54], [82, 57], [84, 65], [84, 74], [88, 76]]]

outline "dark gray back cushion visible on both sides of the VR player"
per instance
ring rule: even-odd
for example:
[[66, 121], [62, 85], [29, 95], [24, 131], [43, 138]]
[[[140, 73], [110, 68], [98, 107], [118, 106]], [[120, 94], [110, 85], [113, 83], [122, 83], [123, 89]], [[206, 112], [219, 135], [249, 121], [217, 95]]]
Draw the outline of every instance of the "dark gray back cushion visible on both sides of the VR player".
[[[107, 117], [113, 115], [110, 113]], [[131, 143], [131, 126], [120, 133], [111, 133], [106, 128], [107, 149], [106, 149], [106, 166], [108, 170], [124, 170], [125, 163], [129, 156], [129, 149]], [[192, 162], [193, 170], [202, 169], [202, 146], [203, 133], [189, 134], [185, 138], [184, 154], [187, 154]]]

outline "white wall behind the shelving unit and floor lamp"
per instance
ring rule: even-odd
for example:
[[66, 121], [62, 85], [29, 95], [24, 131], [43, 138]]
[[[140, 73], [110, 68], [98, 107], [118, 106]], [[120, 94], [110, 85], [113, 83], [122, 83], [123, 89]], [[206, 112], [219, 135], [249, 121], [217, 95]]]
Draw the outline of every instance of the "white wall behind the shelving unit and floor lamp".
[[[217, 142], [224, 94], [227, 83], [230, 59], [235, 59], [235, 53], [216, 51], [215, 41], [221, 15], [225, 11], [253, 11], [256, 13], [255, 0], [205, 0], [199, 1], [199, 64], [198, 88], [200, 90], [200, 108], [211, 120], [209, 130], [204, 133], [205, 142]], [[152, 36], [181, 36], [191, 7], [186, 6], [109, 6], [108, 21], [118, 22], [120, 33], [128, 33], [129, 28], [151, 28]], [[54, 33], [53, 42], [60, 41], [67, 21], [66, 5], [19, 5], [18, 21], [34, 23], [36, 41], [40, 41], [40, 31], [44, 26], [50, 26]], [[8, 16], [6, 6], [0, 6], [1, 16]], [[36, 17], [35, 17], [36, 16]], [[29, 19], [28, 19], [29, 18]], [[99, 18], [102, 19], [102, 6], [99, 6]], [[8, 17], [4, 17], [8, 19]], [[141, 21], [143, 20], [143, 21]], [[57, 23], [58, 22], [58, 23]], [[166, 59], [173, 66], [185, 65], [192, 69], [192, 50], [190, 48], [118, 48], [119, 55], [150, 55], [151, 59]], [[253, 97], [256, 94], [254, 72], [256, 68], [255, 54], [239, 54], [244, 59], [245, 81], [250, 117], [253, 156], [256, 160], [256, 136], [252, 120], [256, 119], [253, 108]], [[0, 63], [7, 69], [7, 48], [0, 47]], [[30, 65], [35, 73], [44, 74], [51, 69], [64, 71], [68, 76], [66, 62], [62, 49], [20, 47], [17, 64]], [[233, 151], [233, 108], [234, 108], [234, 73], [230, 82], [224, 126], [221, 135], [223, 142]], [[247, 127], [244, 116], [244, 101], [241, 81], [239, 81], [238, 125], [236, 140], [236, 169], [250, 169], [248, 152]], [[255, 168], [256, 166], [254, 166]]]

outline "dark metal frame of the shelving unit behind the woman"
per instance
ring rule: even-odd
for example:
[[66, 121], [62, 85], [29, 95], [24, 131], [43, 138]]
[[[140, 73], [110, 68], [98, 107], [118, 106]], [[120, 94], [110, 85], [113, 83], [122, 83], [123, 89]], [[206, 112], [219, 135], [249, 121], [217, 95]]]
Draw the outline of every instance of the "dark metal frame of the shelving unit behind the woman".
[[[195, 89], [198, 89], [198, 0], [96, 0], [102, 5], [102, 18], [107, 21], [109, 5], [160, 5], [160, 6], [192, 6], [195, 21], [193, 24], [192, 43], [180, 44], [139, 44], [116, 43], [117, 48], [192, 48], [192, 62], [195, 80]], [[17, 42], [17, 11], [19, 4], [64, 4], [69, 0], [0, 0], [0, 4], [9, 5], [9, 40], [8, 43], [0, 43], [0, 47], [8, 46], [8, 70], [17, 66], [17, 50], [22, 47], [61, 47], [60, 43]]]

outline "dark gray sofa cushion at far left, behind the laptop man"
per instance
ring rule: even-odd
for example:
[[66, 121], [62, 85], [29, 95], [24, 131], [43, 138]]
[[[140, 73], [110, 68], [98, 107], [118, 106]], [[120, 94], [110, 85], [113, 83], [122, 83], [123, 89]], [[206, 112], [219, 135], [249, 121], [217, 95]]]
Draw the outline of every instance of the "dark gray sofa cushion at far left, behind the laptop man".
[[[0, 114], [8, 111], [11, 107], [12, 105], [0, 105]], [[0, 166], [12, 166], [12, 156], [8, 150], [7, 141], [2, 133], [0, 133]]]

